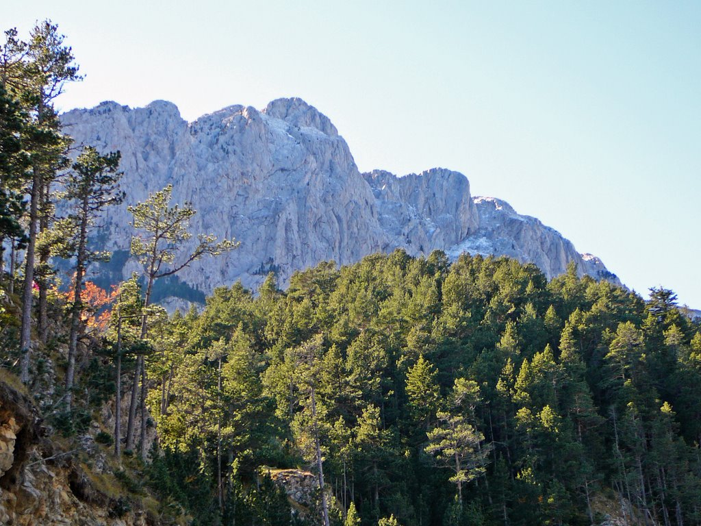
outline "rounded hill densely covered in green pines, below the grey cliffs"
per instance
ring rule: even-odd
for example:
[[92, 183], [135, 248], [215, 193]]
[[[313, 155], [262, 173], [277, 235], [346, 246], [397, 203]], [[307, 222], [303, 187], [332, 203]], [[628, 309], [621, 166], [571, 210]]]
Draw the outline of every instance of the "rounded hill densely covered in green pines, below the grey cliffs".
[[668, 290], [397, 251], [220, 288], [159, 330], [161, 496], [198, 476], [203, 523], [218, 491], [225, 523], [256, 522], [260, 466], [317, 472], [315, 444], [363, 524], [701, 520], [701, 335]]

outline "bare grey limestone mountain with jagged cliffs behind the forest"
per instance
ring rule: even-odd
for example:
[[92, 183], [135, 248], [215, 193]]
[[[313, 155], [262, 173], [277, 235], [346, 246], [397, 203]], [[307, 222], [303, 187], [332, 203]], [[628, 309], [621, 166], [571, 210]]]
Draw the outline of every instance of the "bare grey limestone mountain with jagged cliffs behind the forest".
[[[331, 121], [298, 98], [263, 111], [230, 106], [191, 123], [170, 102], [135, 109], [103, 102], [62, 122], [79, 144], [121, 151], [127, 204], [170, 183], [175, 202], [198, 210], [193, 231], [240, 241], [238, 250], [184, 269], [184, 283], [170, 283], [164, 296], [193, 299], [238, 279], [255, 287], [270, 271], [285, 285], [320, 261], [348, 264], [395, 248], [509, 255], [549, 278], [575, 262], [580, 274], [618, 283], [599, 259], [580, 255], [535, 218], [498, 199], [472, 198], [461, 173], [361, 174]], [[118, 281], [139, 265], [128, 253], [130, 215], [122, 205], [103, 219], [97, 243], [114, 257], [93, 271]]]

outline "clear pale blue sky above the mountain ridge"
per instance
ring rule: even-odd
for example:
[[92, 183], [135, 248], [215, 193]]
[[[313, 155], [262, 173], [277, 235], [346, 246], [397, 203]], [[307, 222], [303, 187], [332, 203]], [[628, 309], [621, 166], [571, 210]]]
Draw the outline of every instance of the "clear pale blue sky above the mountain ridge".
[[85, 79], [61, 109], [301, 97], [361, 171], [457, 170], [701, 309], [701, 2], [2, 3], [2, 29], [66, 35]]

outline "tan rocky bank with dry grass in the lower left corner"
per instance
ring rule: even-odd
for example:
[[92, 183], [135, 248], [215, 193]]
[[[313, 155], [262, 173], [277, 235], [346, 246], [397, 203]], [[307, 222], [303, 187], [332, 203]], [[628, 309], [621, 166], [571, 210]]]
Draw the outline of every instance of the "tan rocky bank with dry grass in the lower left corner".
[[121, 495], [118, 484], [111, 490], [114, 476], [88, 470], [75, 451], [56, 450], [43, 436], [38, 414], [20, 387], [0, 378], [0, 525], [156, 524]]

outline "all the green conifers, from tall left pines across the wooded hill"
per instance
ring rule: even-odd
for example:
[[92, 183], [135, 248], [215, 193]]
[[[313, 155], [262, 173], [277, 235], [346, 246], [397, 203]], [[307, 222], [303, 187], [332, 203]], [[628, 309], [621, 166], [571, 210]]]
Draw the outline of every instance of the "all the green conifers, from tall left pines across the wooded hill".
[[245, 246], [200, 236], [183, 252], [196, 211], [166, 187], [129, 208], [144, 272], [88, 281], [109, 257], [90, 250], [95, 219], [125, 198], [119, 154], [75, 151], [60, 127], [53, 98], [79, 74], [55, 25], [8, 32], [2, 51], [0, 382], [41, 414], [54, 458], [104, 459], [110, 513], [701, 524], [701, 325], [674, 292], [644, 301], [573, 265], [548, 282], [503, 257], [397, 250], [168, 316], [158, 280]]

